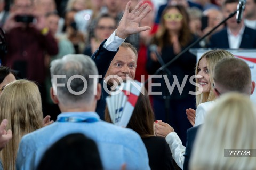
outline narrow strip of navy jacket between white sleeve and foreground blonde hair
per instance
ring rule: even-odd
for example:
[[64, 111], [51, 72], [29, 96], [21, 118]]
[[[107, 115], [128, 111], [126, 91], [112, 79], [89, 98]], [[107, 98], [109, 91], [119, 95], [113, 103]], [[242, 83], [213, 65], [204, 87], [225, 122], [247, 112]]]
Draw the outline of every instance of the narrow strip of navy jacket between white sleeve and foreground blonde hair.
[[193, 144], [194, 144], [194, 141], [196, 139], [197, 130], [198, 130], [198, 128], [200, 128], [200, 126], [201, 125], [191, 127], [187, 130], [187, 144], [186, 144], [186, 151], [184, 153], [185, 159], [184, 159], [183, 170], [189, 169], [188, 168], [188, 163], [189, 163], [191, 151], [193, 149]]

